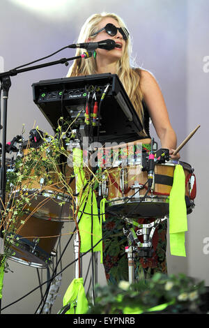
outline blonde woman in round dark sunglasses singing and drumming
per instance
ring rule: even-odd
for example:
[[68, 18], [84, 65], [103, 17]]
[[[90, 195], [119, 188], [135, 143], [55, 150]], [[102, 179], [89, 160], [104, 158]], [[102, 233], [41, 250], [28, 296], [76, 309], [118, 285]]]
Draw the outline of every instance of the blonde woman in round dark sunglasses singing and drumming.
[[[127, 95], [130, 97], [139, 118], [144, 126], [141, 131], [143, 144], [150, 144], [149, 119], [152, 120], [162, 148], [169, 149], [171, 158], [176, 149], [176, 133], [169, 121], [169, 114], [164, 98], [155, 77], [148, 71], [130, 66], [130, 35], [123, 20], [112, 13], [95, 14], [89, 17], [79, 34], [77, 43], [98, 42], [112, 39], [116, 42], [113, 50], [98, 48], [96, 56], [90, 59], [75, 61], [68, 71], [68, 77], [101, 73], [117, 74]], [[83, 50], [78, 49], [77, 54]], [[148, 223], [140, 219], [140, 223]], [[137, 260], [137, 276], [146, 277], [155, 271], [167, 272], [166, 264], [166, 234], [167, 223], [161, 223], [153, 236], [152, 258]], [[104, 269], [107, 281], [118, 283], [127, 280], [127, 257], [125, 245], [127, 239], [123, 236], [123, 226], [118, 218], [107, 218], [103, 229], [104, 238]]]

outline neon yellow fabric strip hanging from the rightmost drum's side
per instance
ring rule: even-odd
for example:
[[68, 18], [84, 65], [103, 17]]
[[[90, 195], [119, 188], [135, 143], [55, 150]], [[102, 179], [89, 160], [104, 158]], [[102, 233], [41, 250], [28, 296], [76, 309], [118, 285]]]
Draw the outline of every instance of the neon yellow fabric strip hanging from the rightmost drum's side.
[[186, 231], [187, 207], [185, 204], [185, 173], [182, 165], [176, 165], [173, 174], [173, 186], [169, 197], [169, 234], [171, 255], [186, 256]]

